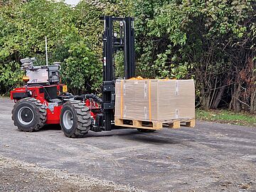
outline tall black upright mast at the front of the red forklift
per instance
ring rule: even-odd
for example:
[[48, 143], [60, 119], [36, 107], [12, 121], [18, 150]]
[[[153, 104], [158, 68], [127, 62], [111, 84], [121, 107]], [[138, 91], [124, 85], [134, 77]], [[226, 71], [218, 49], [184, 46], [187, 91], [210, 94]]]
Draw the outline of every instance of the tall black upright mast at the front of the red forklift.
[[109, 131], [114, 129], [114, 85], [115, 80], [120, 78], [114, 75], [114, 53], [117, 51], [124, 53], [124, 79], [133, 78], [135, 75], [134, 18], [103, 16], [101, 19], [104, 21], [102, 127]]

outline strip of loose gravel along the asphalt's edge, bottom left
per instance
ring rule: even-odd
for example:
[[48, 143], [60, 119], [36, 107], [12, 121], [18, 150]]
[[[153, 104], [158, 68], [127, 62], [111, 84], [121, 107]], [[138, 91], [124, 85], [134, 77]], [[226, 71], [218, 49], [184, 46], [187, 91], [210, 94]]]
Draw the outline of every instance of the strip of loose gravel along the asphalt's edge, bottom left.
[[141, 191], [111, 181], [102, 181], [68, 171], [45, 169], [0, 157], [0, 191]]

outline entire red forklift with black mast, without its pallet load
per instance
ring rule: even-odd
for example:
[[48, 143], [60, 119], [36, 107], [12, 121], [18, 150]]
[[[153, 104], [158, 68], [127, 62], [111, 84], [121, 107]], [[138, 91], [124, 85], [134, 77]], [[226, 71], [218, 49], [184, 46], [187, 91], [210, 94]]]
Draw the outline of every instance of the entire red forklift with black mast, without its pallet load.
[[[35, 58], [21, 59], [26, 85], [11, 91], [16, 104], [12, 110], [14, 125], [33, 132], [45, 124], [60, 124], [65, 136], [84, 137], [93, 132], [122, 129], [114, 125], [114, 54], [124, 55], [124, 79], [135, 76], [134, 18], [103, 16], [102, 98], [93, 94], [73, 95], [60, 83], [60, 63], [36, 66]], [[138, 129], [151, 132], [152, 129]]]

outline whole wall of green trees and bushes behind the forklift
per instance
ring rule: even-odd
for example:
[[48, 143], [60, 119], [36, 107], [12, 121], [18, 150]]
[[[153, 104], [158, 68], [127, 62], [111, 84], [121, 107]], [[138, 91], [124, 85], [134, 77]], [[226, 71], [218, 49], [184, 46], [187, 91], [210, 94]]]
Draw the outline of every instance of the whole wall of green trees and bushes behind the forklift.
[[21, 58], [45, 64], [45, 36], [70, 92], [100, 92], [103, 15], [135, 17], [137, 75], [193, 78], [197, 107], [256, 112], [254, 0], [1, 0], [0, 93], [22, 84]]

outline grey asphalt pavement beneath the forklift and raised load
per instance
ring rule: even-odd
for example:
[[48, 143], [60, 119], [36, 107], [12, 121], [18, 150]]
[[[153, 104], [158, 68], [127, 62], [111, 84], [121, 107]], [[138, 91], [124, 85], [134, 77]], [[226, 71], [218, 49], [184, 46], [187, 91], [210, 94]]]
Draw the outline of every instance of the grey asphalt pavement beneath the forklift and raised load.
[[196, 122], [193, 129], [120, 129], [69, 139], [58, 126], [18, 132], [13, 105], [0, 99], [3, 158], [144, 191], [256, 191], [255, 127]]

